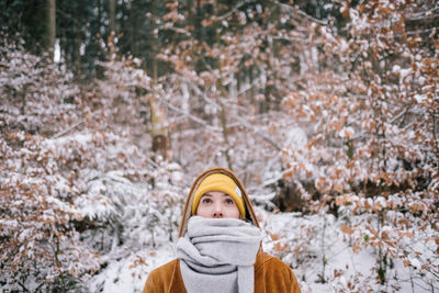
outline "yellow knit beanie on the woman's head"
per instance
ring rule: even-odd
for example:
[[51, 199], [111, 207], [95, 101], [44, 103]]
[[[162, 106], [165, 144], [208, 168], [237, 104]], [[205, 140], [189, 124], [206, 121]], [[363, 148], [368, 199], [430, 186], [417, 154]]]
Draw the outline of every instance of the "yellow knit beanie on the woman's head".
[[192, 215], [195, 214], [196, 207], [199, 207], [201, 196], [210, 191], [222, 191], [230, 195], [235, 200], [243, 218], [246, 217], [243, 192], [232, 178], [223, 173], [210, 174], [201, 181], [193, 196]]

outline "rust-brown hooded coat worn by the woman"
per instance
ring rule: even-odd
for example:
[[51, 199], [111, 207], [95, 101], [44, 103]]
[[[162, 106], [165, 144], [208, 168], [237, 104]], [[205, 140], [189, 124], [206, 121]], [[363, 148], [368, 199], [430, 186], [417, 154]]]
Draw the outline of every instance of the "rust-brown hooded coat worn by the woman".
[[[193, 193], [198, 185], [206, 176], [222, 172], [235, 180], [243, 191], [243, 199], [246, 205], [247, 221], [259, 227], [258, 219], [254, 212], [247, 192], [235, 176], [225, 168], [213, 168], [201, 173], [192, 184], [180, 224], [179, 237], [183, 236], [187, 229], [188, 219], [191, 216]], [[151, 271], [146, 280], [143, 293], [185, 293], [183, 279], [180, 272], [180, 260], [175, 259]], [[279, 258], [263, 253], [258, 253], [255, 262], [255, 293], [301, 293], [297, 280], [291, 268]]]

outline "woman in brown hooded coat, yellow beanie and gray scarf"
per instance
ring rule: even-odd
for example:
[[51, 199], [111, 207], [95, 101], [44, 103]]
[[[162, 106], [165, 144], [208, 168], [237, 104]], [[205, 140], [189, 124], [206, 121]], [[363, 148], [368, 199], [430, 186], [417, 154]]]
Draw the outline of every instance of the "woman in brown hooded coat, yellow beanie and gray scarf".
[[155, 269], [144, 293], [300, 293], [284, 262], [263, 253], [261, 234], [243, 183], [225, 168], [201, 173], [189, 192], [177, 259]]

